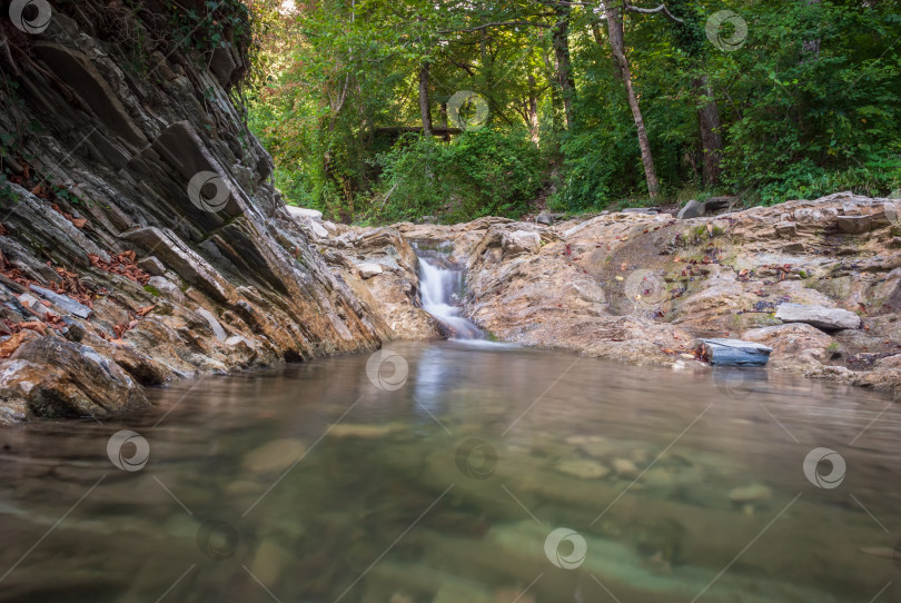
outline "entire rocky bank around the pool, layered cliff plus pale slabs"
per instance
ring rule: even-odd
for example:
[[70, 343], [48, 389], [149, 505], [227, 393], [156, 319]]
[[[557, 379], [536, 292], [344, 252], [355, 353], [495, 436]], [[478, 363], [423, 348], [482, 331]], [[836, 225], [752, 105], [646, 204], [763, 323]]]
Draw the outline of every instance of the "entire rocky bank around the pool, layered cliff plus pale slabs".
[[446, 336], [414, 246], [468, 270], [465, 312], [497, 339], [685, 368], [702, 366], [699, 338], [739, 337], [775, 368], [901, 383], [898, 201], [325, 223], [284, 204], [232, 103], [240, 40], [187, 50], [151, 34], [167, 10], [89, 0], [46, 30], [0, 28], [0, 424], [120, 415], [185, 375]]

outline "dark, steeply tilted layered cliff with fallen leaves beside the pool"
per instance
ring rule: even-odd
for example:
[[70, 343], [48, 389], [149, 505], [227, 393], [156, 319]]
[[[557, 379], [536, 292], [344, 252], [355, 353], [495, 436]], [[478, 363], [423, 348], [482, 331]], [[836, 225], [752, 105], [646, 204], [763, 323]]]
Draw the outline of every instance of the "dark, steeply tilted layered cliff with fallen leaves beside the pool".
[[139, 384], [379, 345], [388, 328], [297, 228], [229, 98], [236, 3], [180, 2], [182, 21], [162, 1], [13, 4], [0, 423], [117, 414], [146, 405]]

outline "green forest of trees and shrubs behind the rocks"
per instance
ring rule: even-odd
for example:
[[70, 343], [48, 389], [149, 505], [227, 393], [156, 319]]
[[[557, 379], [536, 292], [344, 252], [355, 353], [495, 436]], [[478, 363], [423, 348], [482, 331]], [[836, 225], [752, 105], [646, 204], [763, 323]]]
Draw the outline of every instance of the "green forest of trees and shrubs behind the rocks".
[[901, 187], [895, 0], [246, 3], [251, 129], [334, 219]]

